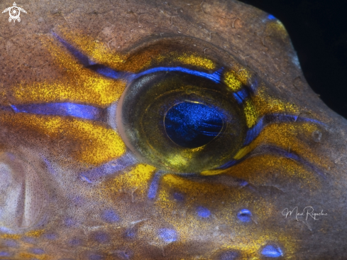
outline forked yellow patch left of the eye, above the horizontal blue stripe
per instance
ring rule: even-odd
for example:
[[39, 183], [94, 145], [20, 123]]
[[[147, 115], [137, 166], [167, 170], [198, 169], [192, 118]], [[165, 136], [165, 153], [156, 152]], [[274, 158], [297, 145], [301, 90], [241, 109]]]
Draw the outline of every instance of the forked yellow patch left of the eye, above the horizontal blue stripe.
[[43, 44], [47, 45], [57, 66], [65, 71], [65, 77], [60, 80], [33, 84], [21, 82], [14, 85], [12, 92], [18, 102], [72, 101], [107, 107], [121, 97], [126, 82], [108, 79], [84, 68], [70, 53], [57, 47], [52, 40], [45, 40]]

